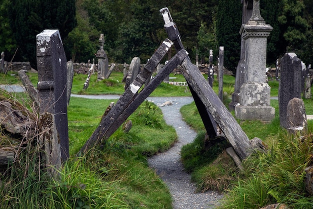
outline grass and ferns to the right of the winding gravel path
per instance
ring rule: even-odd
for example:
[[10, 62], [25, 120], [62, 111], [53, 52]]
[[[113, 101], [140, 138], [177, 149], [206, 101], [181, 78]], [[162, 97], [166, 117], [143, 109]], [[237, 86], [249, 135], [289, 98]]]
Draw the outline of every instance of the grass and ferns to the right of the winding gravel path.
[[[269, 85], [271, 95], [277, 96], [278, 82], [270, 81]], [[311, 101], [304, 99], [307, 114], [313, 113]], [[259, 137], [268, 146], [267, 152], [254, 153], [244, 160], [244, 171], [240, 171], [232, 159], [227, 159], [229, 156], [224, 150], [216, 154], [215, 146], [205, 148], [205, 129], [194, 102], [180, 109], [186, 122], [199, 132], [192, 143], [182, 147], [182, 162], [199, 191], [216, 189], [225, 193], [218, 208], [260, 208], [271, 203], [312, 208], [313, 197], [305, 191], [304, 169], [313, 164], [313, 122], [308, 120], [308, 131], [304, 135], [289, 134], [279, 125], [278, 101], [272, 99], [271, 106], [276, 113], [270, 123], [238, 120], [250, 139]]]

